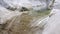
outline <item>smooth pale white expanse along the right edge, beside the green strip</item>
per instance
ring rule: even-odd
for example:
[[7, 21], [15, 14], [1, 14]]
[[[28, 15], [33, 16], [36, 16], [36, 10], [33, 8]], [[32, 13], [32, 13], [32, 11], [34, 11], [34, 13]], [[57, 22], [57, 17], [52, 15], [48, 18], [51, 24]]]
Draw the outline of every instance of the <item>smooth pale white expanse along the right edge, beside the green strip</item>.
[[60, 0], [55, 0], [53, 15], [48, 19], [43, 34], [60, 34]]

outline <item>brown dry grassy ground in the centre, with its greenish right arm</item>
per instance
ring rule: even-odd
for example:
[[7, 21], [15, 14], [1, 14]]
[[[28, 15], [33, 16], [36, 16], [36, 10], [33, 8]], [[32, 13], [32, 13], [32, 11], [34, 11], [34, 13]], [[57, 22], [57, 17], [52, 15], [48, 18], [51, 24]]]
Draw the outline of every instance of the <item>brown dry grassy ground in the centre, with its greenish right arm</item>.
[[49, 12], [34, 12], [33, 14], [34, 15], [28, 15], [27, 13], [23, 13], [22, 15], [15, 16], [6, 21], [6, 24], [3, 24], [3, 28], [0, 30], [0, 34], [33, 34], [31, 30], [32, 28], [28, 26], [33, 18], [48, 15]]

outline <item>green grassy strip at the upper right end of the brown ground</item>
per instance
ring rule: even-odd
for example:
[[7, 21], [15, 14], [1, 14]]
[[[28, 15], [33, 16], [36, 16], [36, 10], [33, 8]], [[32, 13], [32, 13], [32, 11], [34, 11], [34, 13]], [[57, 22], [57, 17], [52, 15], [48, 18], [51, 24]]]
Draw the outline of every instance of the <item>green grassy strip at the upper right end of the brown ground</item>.
[[32, 11], [32, 16], [34, 17], [44, 17], [49, 15], [51, 10], [46, 10], [46, 11]]

